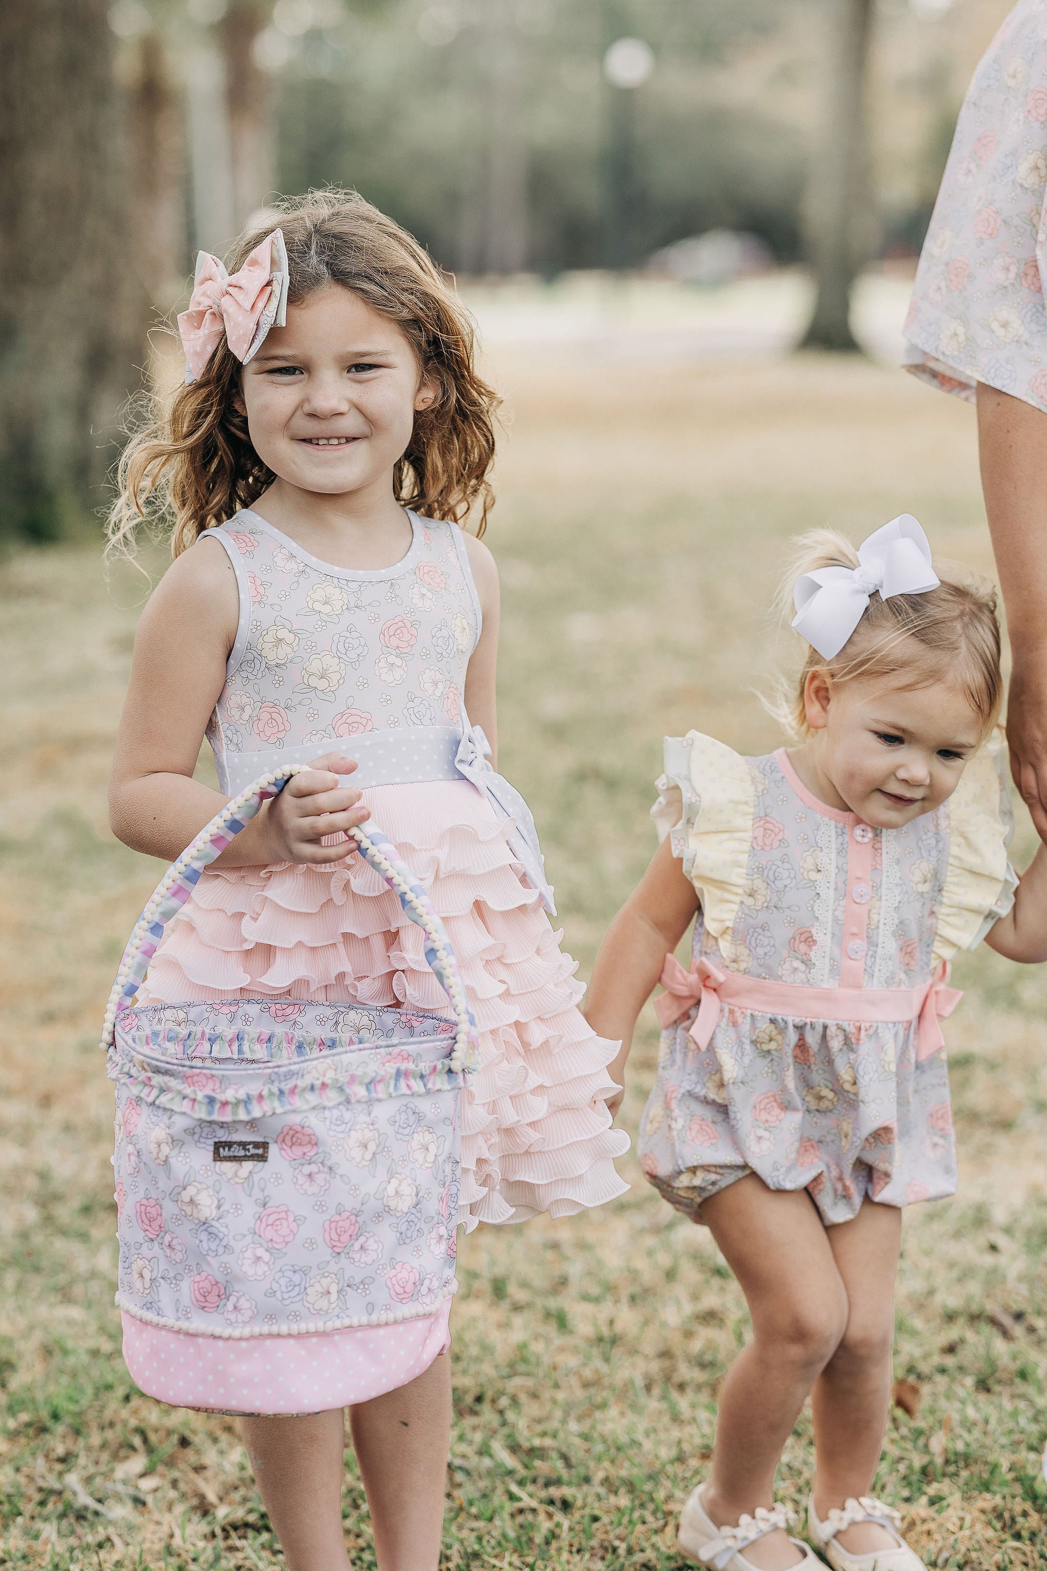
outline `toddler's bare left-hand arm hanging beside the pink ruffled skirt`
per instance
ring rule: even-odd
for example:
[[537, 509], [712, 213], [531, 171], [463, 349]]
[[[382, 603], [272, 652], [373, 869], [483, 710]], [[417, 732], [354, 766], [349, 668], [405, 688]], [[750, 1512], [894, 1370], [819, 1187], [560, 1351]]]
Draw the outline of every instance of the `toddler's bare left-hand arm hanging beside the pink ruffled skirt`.
[[586, 1020], [598, 1035], [622, 1042], [617, 1059], [607, 1065], [611, 1079], [623, 1087], [607, 1098], [611, 1112], [622, 1106], [625, 1062], [637, 1016], [655, 991], [666, 955], [677, 947], [697, 910], [695, 888], [666, 839], [607, 928], [589, 987]]

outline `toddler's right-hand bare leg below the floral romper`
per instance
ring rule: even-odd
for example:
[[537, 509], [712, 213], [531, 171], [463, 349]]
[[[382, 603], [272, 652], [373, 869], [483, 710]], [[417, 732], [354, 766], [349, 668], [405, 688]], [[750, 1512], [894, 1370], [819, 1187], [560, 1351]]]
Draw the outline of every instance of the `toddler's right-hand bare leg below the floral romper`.
[[[895, 1273], [901, 1211], [866, 1200], [852, 1222], [827, 1230], [848, 1291], [840, 1346], [812, 1392], [815, 1414], [815, 1510], [821, 1521], [849, 1496], [870, 1494], [890, 1409]], [[848, 1527], [840, 1547], [852, 1555], [888, 1549], [893, 1538], [873, 1522]]]

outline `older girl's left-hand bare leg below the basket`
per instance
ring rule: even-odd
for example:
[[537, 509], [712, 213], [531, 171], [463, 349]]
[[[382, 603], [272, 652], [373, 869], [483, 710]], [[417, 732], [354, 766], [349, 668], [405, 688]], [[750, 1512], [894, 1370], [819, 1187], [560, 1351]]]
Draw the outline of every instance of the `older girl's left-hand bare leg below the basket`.
[[287, 1571], [347, 1571], [342, 1409], [240, 1419], [240, 1433]]

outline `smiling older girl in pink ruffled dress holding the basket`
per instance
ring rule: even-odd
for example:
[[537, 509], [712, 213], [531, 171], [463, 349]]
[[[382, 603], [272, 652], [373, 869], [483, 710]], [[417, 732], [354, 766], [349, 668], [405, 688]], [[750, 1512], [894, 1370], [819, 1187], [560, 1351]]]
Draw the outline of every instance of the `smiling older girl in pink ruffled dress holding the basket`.
[[[496, 401], [469, 322], [408, 234], [325, 193], [246, 234], [232, 276], [202, 255], [179, 328], [187, 386], [130, 443], [113, 520], [118, 544], [143, 514], [174, 526], [174, 564], [135, 643], [113, 829], [171, 859], [267, 770], [309, 768], [202, 873], [138, 1002], [261, 998], [279, 1021], [317, 1004], [443, 1009], [424, 932], [347, 855], [345, 831], [374, 812], [444, 921], [480, 1029], [460, 1192], [449, 1186], [424, 1241], [407, 1213], [400, 1241], [454, 1255], [458, 1221], [471, 1230], [609, 1200], [625, 1189], [612, 1158], [628, 1147], [604, 1101], [615, 1045], [578, 1013], [534, 823], [488, 762], [498, 573], [460, 522], [474, 503], [480, 528], [487, 515]], [[193, 778], [204, 734], [218, 793]], [[345, 1148], [366, 1183], [375, 1152], [366, 1130], [350, 1150], [358, 1133]], [[253, 1244], [242, 1269], [272, 1273], [279, 1243]], [[345, 1227], [330, 1243], [350, 1269], [386, 1269], [374, 1249], [358, 1258]], [[419, 1271], [402, 1276], [399, 1302]], [[281, 1279], [284, 1290], [298, 1291]], [[267, 1359], [261, 1415], [243, 1434], [290, 1571], [348, 1565], [344, 1406], [378, 1565], [438, 1562], [451, 1299], [419, 1293], [399, 1324], [374, 1316], [305, 1349], [308, 1382], [286, 1343]], [[149, 1393], [224, 1409], [220, 1390], [245, 1387], [237, 1359], [253, 1342], [204, 1338], [204, 1357], [199, 1337], [137, 1313], [132, 1295], [121, 1310], [127, 1365]]]

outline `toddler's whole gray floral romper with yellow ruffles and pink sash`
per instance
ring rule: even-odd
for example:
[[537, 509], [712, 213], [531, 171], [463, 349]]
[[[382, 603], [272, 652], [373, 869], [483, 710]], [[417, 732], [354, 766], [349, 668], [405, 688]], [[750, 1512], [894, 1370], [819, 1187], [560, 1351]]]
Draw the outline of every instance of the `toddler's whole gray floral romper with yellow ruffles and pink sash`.
[[1014, 902], [1009, 792], [983, 749], [953, 796], [901, 829], [818, 801], [785, 751], [666, 740], [651, 809], [702, 908], [694, 968], [669, 957], [640, 1166], [699, 1221], [755, 1172], [807, 1189], [826, 1224], [866, 1197], [956, 1191], [939, 1016], [948, 960]]

